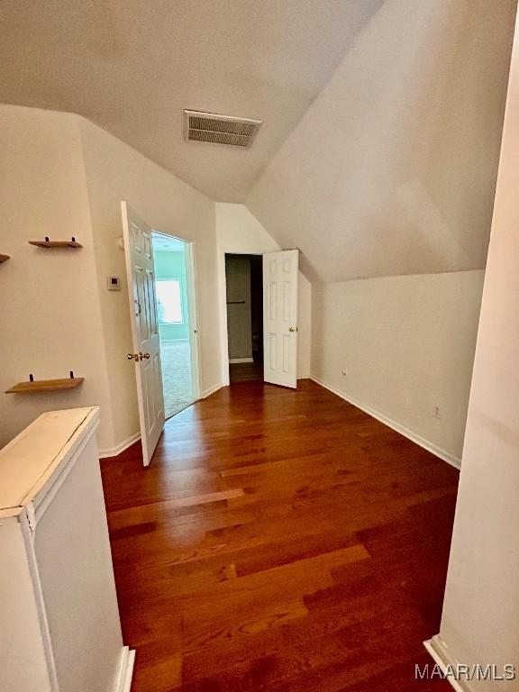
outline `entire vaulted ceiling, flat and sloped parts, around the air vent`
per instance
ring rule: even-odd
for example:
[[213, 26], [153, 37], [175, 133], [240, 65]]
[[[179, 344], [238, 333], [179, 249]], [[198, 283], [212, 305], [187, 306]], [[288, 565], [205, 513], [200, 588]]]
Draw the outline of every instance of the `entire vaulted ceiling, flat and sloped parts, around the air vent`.
[[[309, 278], [485, 266], [516, 0], [3, 0], [0, 101], [82, 114]], [[183, 109], [264, 121], [186, 142]]]

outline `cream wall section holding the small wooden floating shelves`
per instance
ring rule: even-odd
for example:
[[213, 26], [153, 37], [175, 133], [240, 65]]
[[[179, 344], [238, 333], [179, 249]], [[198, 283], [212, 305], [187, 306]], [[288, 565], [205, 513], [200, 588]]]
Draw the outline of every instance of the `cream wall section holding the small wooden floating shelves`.
[[[51, 409], [100, 405], [112, 439], [108, 369], [77, 117], [0, 105], [0, 446]], [[81, 250], [27, 241], [76, 236]], [[7, 395], [20, 380], [84, 376], [68, 392]]]

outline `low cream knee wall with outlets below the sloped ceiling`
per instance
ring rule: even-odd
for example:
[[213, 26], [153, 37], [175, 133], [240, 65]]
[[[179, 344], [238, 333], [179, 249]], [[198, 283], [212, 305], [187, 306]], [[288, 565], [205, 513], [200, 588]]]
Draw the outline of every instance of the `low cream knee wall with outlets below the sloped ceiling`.
[[482, 284], [482, 271], [314, 284], [312, 377], [460, 460]]

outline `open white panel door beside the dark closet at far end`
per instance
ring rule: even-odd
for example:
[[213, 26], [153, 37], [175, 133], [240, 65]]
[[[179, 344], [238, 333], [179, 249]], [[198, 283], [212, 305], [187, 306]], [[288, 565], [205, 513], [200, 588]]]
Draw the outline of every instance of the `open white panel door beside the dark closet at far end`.
[[265, 382], [297, 387], [298, 250], [263, 255]]

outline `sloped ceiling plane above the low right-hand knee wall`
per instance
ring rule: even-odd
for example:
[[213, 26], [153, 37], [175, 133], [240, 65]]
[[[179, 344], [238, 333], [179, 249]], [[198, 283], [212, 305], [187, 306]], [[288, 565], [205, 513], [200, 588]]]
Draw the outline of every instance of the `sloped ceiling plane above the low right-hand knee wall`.
[[387, 0], [247, 200], [306, 275], [485, 266], [514, 0]]

